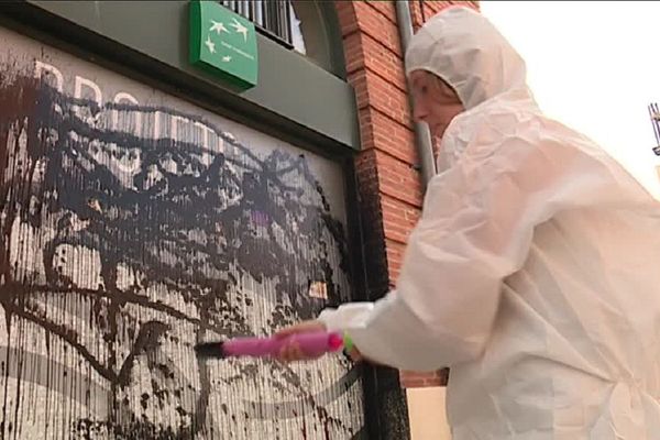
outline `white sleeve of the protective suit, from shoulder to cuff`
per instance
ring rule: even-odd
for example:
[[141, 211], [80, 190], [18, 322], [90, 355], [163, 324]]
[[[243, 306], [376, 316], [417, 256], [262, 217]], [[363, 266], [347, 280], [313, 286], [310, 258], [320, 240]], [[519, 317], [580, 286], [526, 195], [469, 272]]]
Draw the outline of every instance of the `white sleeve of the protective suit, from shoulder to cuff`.
[[590, 154], [530, 138], [471, 147], [433, 177], [396, 292], [320, 319], [345, 330], [364, 356], [397, 369], [438, 370], [480, 356], [503, 280], [522, 266], [534, 228], [588, 202], [610, 177]]

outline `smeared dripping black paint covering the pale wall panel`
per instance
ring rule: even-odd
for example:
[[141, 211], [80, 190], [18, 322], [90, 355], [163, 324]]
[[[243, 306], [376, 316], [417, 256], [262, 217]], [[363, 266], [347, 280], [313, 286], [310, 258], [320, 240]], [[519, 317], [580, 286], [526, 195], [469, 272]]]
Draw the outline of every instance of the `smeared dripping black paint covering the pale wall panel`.
[[[85, 111], [80, 112], [80, 108]], [[95, 123], [95, 116], [108, 110], [131, 114], [160, 112], [202, 122], [229, 147], [226, 154], [205, 151], [191, 142], [140, 138]], [[9, 142], [10, 134], [13, 142]], [[20, 136], [26, 139], [24, 151], [20, 147]], [[132, 177], [130, 185], [122, 184], [108, 164], [98, 161], [99, 153], [116, 158], [139, 155], [141, 172]], [[204, 154], [211, 157], [210, 163], [204, 162]], [[186, 172], [170, 172], [165, 162]], [[12, 172], [6, 175], [9, 169]], [[163, 408], [172, 399], [183, 402], [184, 396], [194, 392], [186, 382], [186, 372], [178, 371], [160, 349], [164, 338], [174, 338], [169, 336], [169, 326], [158, 320], [140, 322], [130, 315], [130, 306], [193, 324], [197, 339], [201, 340], [209, 332], [228, 337], [268, 332], [310, 318], [328, 302], [348, 299], [348, 293], [332, 280], [333, 271], [346, 271], [344, 231], [341, 222], [332, 218], [322, 187], [306, 158], [283, 151], [260, 157], [231, 134], [196, 116], [167, 108], [114, 103], [99, 107], [59, 94], [29, 77], [0, 76], [0, 178], [3, 179], [0, 306], [6, 312], [7, 331], [10, 334], [14, 329], [22, 331], [16, 321], [38, 326], [45, 330], [47, 348], [51, 338], [58, 338], [109, 384], [111, 419], [78, 418], [70, 427], [70, 435], [77, 438], [107, 435], [122, 439], [183, 439], [195, 438], [202, 430], [211, 436], [222, 431], [222, 427], [208, 424], [209, 391], [213, 384], [206, 362], [197, 365], [200, 389], [195, 403], [176, 408], [182, 418], [179, 426], [156, 425], [144, 414], [142, 417], [134, 414], [128, 400], [119, 397], [130, 385], [138, 356], [146, 356], [152, 376], [152, 393], [140, 396], [140, 406], [145, 411]], [[11, 229], [16, 219], [36, 230], [55, 231], [44, 243], [45, 283], [19, 277], [10, 264]], [[292, 228], [294, 222], [296, 228]], [[58, 251], [64, 252], [65, 245], [98, 251], [102, 280], [99, 286], [82, 288], [63, 273], [58, 262], [66, 261], [67, 255]], [[330, 262], [330, 248], [339, 250], [339, 266], [333, 267]], [[120, 264], [142, 274], [138, 284], [120, 288]], [[229, 296], [232, 292], [239, 301], [251, 305], [251, 299], [241, 294], [244, 274], [257, 282], [275, 282], [277, 306], [267, 329], [251, 329], [239, 305]], [[315, 280], [327, 284], [329, 301], [307, 295]], [[196, 312], [177, 310], [144, 295], [155, 286], [177, 292]], [[46, 311], [48, 300], [61, 297], [66, 301], [72, 296], [90, 304], [89, 316], [80, 318], [102, 332], [99, 344], [108, 348], [107, 356], [96, 354], [98, 346], [95, 350], [87, 345], [75, 328], [58, 322], [57, 317]], [[122, 356], [119, 349], [127, 340], [130, 350]], [[191, 351], [189, 346], [184, 349]], [[16, 352], [7, 353], [9, 365], [9, 353]], [[19, 384], [23, 371], [20, 365], [15, 372]], [[341, 393], [341, 384], [319, 399], [304, 389], [300, 378], [289, 367], [273, 363], [271, 369], [273, 374], [268, 380], [273, 387], [301, 396], [300, 402], [284, 407], [298, 405], [315, 411], [326, 420], [327, 437], [329, 425], [350, 430], [323, 408], [329, 393], [332, 396]], [[2, 373], [7, 384], [10, 369]], [[249, 383], [257, 374], [254, 364], [246, 364], [235, 377], [223, 381]], [[351, 381], [355, 380], [354, 372], [348, 374]], [[47, 376], [50, 381], [52, 375]], [[20, 395], [20, 388], [16, 393]], [[0, 431], [14, 433], [16, 428], [8, 413], [7, 396], [6, 389]], [[89, 392], [86, 399], [89, 400]], [[18, 407], [16, 404], [15, 410]], [[245, 413], [245, 418], [271, 413], [256, 403], [252, 407], [254, 410]], [[191, 422], [185, 425], [183, 420], [188, 416]], [[14, 414], [13, 420], [16, 419]]]

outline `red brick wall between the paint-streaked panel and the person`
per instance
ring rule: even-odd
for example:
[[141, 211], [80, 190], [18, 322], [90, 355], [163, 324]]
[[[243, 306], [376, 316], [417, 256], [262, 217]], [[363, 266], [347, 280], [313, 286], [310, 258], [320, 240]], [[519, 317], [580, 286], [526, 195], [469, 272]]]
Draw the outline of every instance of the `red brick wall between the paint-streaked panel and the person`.
[[[413, 24], [452, 4], [476, 1], [409, 2]], [[396, 12], [393, 1], [336, 1], [348, 79], [355, 88], [362, 135], [356, 157], [360, 212], [365, 234], [367, 294], [384, 295], [399, 274], [406, 241], [421, 209], [415, 133]], [[446, 382], [446, 372], [402, 372], [404, 386]]]

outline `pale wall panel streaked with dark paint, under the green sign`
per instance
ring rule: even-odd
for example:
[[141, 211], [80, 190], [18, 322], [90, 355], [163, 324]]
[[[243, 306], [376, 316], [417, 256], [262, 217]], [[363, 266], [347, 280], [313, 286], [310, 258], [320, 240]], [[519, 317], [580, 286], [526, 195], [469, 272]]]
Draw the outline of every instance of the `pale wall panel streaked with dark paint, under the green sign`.
[[340, 164], [0, 37], [2, 437], [362, 436], [343, 358], [191, 349], [352, 297]]

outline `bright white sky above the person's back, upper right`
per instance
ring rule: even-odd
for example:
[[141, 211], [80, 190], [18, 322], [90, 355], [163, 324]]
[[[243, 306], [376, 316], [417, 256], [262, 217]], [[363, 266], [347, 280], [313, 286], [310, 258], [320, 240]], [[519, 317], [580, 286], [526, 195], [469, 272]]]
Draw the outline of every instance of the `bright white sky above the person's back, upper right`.
[[481, 1], [527, 62], [541, 109], [586, 134], [660, 199], [647, 106], [660, 103], [660, 2]]

